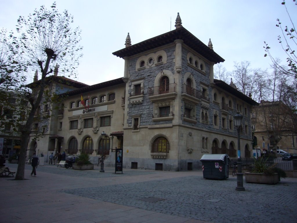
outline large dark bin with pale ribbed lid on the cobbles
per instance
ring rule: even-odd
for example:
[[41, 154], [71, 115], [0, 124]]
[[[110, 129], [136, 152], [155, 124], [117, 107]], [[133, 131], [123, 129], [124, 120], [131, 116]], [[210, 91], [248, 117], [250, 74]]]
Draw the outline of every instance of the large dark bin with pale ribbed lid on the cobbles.
[[227, 154], [204, 154], [202, 162], [203, 178], [224, 180], [229, 178], [230, 158]]

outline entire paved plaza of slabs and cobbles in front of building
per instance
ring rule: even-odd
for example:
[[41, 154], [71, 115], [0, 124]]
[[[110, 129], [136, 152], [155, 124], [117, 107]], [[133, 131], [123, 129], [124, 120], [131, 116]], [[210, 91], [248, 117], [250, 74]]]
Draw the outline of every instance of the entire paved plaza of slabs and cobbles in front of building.
[[[12, 171], [17, 164], [7, 164]], [[203, 172], [124, 169], [114, 174], [45, 164], [31, 177], [0, 178], [1, 223], [202, 223], [297, 222], [297, 178], [276, 185], [245, 183], [236, 177], [205, 180]]]

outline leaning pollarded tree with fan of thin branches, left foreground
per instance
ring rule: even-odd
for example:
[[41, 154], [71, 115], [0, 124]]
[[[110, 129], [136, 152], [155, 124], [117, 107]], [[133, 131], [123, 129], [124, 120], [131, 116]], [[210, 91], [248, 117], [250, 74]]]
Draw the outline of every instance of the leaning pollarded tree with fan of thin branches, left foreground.
[[[14, 83], [14, 88], [21, 92], [29, 101], [29, 111], [26, 123], [21, 126], [21, 148], [18, 170], [15, 176], [17, 180], [24, 179], [26, 150], [31, 134], [31, 125], [36, 119], [37, 109], [42, 100], [54, 100], [56, 98], [52, 89], [47, 89], [47, 76], [53, 72], [56, 64], [59, 65], [64, 75], [76, 75], [75, 68], [78, 59], [82, 56], [78, 45], [80, 41], [80, 29], [72, 29], [73, 17], [67, 10], [60, 14], [53, 3], [50, 10], [41, 6], [35, 9], [28, 18], [20, 16], [17, 24], [18, 36], [12, 37], [13, 44], [22, 52], [23, 61], [30, 70], [39, 70], [41, 77], [39, 81], [31, 85], [24, 84], [27, 80]], [[34, 85], [34, 83], [38, 83]]]

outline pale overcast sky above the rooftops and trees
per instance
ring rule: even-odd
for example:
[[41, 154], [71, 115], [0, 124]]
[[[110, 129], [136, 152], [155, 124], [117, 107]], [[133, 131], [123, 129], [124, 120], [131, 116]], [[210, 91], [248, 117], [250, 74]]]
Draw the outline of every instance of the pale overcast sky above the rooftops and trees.
[[[214, 51], [225, 59], [223, 66], [233, 70], [234, 61], [249, 61], [251, 68], [266, 69], [271, 63], [264, 57], [264, 41], [271, 53], [285, 63], [285, 54], [278, 43], [281, 30], [277, 18], [288, 25], [289, 18], [282, 0], [200, 1], [200, 0], [57, 0], [56, 9], [65, 9], [74, 16], [74, 25], [82, 30], [83, 58], [80, 60], [77, 81], [86, 84], [124, 76], [124, 60], [113, 52], [125, 47], [127, 33], [132, 44], [175, 29], [177, 12], [182, 25], [206, 45], [209, 38]], [[20, 15], [27, 17], [48, 0], [0, 0], [0, 28], [15, 31]], [[297, 21], [297, 6], [287, 0], [287, 9]], [[297, 23], [295, 23], [297, 25]], [[33, 76], [34, 71], [31, 75]]]

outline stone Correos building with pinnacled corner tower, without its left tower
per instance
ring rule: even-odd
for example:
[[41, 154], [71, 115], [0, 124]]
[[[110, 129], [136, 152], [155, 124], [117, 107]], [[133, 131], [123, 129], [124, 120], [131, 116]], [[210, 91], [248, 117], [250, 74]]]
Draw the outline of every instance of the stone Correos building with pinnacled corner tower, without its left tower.
[[[224, 59], [176, 18], [176, 29], [113, 54], [123, 58], [124, 77], [63, 93], [64, 111], [48, 122], [37, 147], [67, 154], [89, 153], [114, 165], [123, 148], [125, 168], [199, 169], [203, 154], [237, 158], [234, 115], [243, 115], [241, 157], [251, 157], [251, 106], [234, 86], [214, 79]], [[103, 133], [104, 132], [104, 133]], [[103, 133], [103, 134], [102, 134]], [[56, 140], [56, 144], [54, 143]]]

